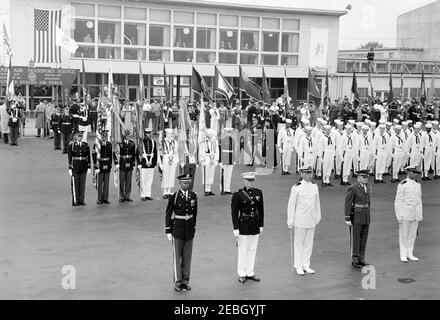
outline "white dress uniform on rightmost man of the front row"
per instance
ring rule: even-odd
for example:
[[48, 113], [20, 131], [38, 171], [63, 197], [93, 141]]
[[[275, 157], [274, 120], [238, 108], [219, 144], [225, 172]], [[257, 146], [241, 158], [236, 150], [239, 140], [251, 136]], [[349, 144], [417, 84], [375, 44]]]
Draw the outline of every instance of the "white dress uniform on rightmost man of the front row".
[[397, 186], [394, 209], [399, 221], [400, 259], [407, 261], [414, 259], [414, 242], [417, 236], [419, 221], [423, 219], [422, 188], [420, 183], [412, 179], [405, 179]]

